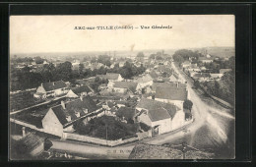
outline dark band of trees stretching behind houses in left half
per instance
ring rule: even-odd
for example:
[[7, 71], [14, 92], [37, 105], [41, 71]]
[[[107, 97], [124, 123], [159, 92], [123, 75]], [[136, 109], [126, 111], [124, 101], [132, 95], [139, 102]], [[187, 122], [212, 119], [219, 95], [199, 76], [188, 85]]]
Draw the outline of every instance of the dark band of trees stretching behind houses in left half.
[[99, 69], [91, 70], [87, 69], [84, 64], [80, 64], [78, 70], [72, 70], [71, 62], [66, 61], [57, 66], [49, 63], [38, 67], [35, 71], [31, 70], [28, 66], [23, 69], [17, 69], [15, 65], [11, 65], [10, 88], [12, 91], [33, 88], [40, 83], [60, 80], [68, 82], [76, 79], [95, 77], [96, 75], [105, 75], [106, 73], [119, 73], [125, 79], [132, 79], [134, 76], [143, 74], [146, 68], [144, 66], [136, 67], [133, 63], [126, 62], [123, 67], [119, 67], [116, 64], [112, 69], [102, 66]]

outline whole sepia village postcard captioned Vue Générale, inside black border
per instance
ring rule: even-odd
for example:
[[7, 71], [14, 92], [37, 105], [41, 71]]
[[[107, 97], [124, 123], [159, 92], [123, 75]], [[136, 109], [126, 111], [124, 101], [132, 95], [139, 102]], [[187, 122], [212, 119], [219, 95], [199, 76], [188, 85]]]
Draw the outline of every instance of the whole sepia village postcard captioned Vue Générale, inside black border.
[[235, 159], [234, 15], [10, 16], [9, 159]]

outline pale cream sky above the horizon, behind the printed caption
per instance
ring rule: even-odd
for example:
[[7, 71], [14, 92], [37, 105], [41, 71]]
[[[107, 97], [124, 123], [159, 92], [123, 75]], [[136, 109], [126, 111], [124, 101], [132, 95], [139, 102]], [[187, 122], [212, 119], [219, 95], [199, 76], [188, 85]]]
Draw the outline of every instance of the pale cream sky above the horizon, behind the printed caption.
[[[134, 29], [74, 29], [99, 26]], [[11, 16], [10, 53], [234, 47], [234, 31], [233, 15]]]

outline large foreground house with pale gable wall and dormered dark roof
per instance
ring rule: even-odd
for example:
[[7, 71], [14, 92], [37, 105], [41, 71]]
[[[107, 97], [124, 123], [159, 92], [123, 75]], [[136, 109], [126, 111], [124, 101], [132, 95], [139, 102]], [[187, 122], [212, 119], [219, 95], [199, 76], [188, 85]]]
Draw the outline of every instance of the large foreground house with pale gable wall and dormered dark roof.
[[[88, 113], [99, 111], [91, 97], [80, 97], [79, 99], [64, 102], [49, 108], [41, 123], [45, 133], [62, 137], [63, 132], [73, 132], [73, 123]], [[88, 117], [86, 118], [88, 119]]]

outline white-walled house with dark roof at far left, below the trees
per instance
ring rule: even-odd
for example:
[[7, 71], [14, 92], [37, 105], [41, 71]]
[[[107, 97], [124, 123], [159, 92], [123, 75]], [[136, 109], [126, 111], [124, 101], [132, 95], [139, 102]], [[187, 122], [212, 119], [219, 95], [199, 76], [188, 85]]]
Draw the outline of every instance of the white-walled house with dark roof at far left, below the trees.
[[52, 83], [41, 83], [33, 94], [35, 98], [46, 98], [49, 96], [63, 95], [68, 92], [68, 86], [63, 81]]

